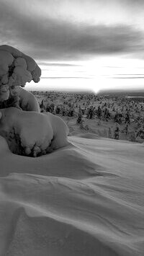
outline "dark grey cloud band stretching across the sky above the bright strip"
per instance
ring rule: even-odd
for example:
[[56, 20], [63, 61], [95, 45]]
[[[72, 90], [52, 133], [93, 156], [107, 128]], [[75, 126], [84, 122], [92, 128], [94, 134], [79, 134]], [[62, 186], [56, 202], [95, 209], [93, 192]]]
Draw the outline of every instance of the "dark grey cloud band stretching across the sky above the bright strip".
[[1, 44], [10, 44], [38, 60], [74, 60], [95, 55], [140, 53], [143, 32], [130, 25], [88, 25], [0, 9]]

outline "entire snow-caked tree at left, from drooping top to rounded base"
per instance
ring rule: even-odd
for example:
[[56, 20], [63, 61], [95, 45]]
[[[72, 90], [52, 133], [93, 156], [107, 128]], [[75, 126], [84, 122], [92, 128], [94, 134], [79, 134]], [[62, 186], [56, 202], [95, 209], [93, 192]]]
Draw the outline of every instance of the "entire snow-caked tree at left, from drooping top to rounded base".
[[68, 144], [62, 119], [40, 113], [35, 96], [22, 87], [40, 81], [37, 63], [9, 46], [0, 46], [0, 135], [9, 149], [23, 156], [41, 156]]

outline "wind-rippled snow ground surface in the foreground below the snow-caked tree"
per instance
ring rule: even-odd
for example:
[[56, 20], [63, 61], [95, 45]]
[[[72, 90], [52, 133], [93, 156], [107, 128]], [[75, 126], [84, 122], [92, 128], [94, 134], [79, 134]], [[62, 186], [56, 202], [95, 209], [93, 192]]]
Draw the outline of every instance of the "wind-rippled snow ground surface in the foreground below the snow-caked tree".
[[0, 137], [0, 255], [143, 256], [143, 144], [89, 135], [31, 158]]

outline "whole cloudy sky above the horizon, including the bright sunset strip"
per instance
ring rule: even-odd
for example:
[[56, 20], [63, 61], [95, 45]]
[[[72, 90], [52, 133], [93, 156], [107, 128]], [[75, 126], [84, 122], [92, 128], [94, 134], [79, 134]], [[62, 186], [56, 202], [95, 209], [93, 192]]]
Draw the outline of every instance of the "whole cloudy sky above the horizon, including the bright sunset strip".
[[42, 69], [26, 89], [140, 89], [143, 0], [0, 0], [0, 45]]

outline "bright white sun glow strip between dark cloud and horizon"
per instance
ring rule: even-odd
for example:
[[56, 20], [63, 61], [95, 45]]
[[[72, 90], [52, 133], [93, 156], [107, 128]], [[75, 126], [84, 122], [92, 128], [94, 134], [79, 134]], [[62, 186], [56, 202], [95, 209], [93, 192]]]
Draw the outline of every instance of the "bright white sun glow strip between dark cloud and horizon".
[[143, 61], [133, 58], [101, 57], [92, 61], [39, 63], [40, 83], [26, 89], [87, 90], [142, 88]]

